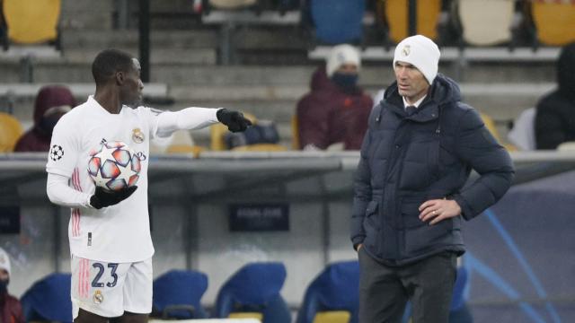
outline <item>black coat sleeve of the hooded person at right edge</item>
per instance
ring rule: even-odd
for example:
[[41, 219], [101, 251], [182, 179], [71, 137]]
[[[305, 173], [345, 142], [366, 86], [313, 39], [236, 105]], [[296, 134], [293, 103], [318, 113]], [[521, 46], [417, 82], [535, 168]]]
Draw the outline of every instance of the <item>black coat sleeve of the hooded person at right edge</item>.
[[535, 147], [537, 149], [556, 149], [567, 141], [562, 130], [562, 116], [553, 107], [537, 107], [535, 115]]

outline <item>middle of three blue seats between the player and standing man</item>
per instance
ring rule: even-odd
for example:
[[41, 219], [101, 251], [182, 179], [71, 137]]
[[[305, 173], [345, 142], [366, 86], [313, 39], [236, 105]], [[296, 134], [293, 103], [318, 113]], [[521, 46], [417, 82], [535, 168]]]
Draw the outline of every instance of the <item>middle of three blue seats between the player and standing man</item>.
[[289, 323], [291, 314], [279, 291], [286, 267], [279, 262], [251, 263], [232, 275], [217, 293], [214, 317], [260, 318], [262, 323]]

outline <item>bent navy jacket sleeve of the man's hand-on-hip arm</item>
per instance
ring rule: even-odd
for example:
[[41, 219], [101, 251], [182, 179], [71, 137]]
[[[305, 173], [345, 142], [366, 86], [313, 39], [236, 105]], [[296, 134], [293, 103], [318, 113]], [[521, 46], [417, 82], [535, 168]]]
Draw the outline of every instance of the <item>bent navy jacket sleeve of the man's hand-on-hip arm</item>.
[[467, 109], [459, 122], [456, 151], [480, 176], [453, 198], [465, 220], [494, 205], [511, 186], [514, 169], [509, 153], [483, 125], [475, 109]]

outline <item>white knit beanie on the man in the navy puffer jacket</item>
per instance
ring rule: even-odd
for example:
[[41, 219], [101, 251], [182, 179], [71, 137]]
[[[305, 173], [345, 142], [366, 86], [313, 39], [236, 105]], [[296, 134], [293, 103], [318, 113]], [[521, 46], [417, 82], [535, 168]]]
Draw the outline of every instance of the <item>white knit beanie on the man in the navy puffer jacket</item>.
[[439, 56], [438, 45], [433, 40], [425, 36], [415, 35], [403, 39], [397, 44], [394, 66], [397, 61], [414, 65], [431, 84], [438, 74]]

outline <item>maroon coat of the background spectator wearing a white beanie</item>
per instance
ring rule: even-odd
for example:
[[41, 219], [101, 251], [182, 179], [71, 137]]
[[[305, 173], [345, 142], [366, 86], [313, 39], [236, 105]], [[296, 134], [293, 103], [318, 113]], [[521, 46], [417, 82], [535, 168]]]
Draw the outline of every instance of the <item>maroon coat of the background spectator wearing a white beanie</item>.
[[311, 92], [297, 102], [300, 148], [314, 144], [326, 149], [343, 143], [345, 150], [359, 150], [367, 130], [373, 100], [361, 90], [345, 92], [319, 67], [312, 76]]

